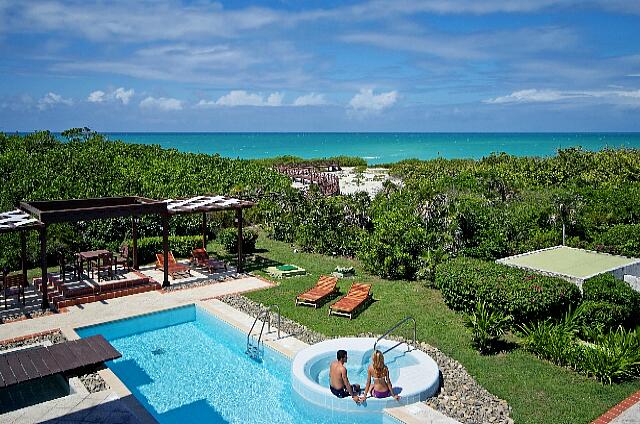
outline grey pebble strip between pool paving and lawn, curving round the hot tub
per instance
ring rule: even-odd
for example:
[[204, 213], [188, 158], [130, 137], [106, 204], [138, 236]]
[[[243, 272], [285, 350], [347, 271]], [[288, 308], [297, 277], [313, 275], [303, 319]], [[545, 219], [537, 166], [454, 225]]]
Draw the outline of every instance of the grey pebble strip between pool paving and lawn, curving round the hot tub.
[[[220, 300], [251, 316], [256, 316], [264, 308], [261, 304], [240, 295], [222, 296]], [[280, 328], [308, 344], [328, 339], [323, 334], [285, 317], [282, 317]], [[360, 336], [378, 337], [379, 334], [360, 334]], [[406, 341], [399, 337], [389, 338]], [[427, 343], [418, 342], [414, 347], [431, 356], [441, 372], [440, 390], [436, 396], [425, 401], [427, 405], [465, 424], [513, 423], [509, 417], [511, 407], [507, 402], [480, 386], [462, 364]]]

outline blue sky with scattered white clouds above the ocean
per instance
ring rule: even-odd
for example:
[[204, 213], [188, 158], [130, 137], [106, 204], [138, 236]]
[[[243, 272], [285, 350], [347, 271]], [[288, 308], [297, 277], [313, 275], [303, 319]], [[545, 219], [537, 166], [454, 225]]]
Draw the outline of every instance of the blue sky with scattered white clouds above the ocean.
[[0, 131], [640, 131], [639, 0], [0, 0]]

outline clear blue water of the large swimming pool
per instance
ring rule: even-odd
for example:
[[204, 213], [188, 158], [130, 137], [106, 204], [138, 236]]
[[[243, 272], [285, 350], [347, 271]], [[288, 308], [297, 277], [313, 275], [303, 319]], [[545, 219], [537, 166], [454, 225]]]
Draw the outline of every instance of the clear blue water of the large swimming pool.
[[161, 423], [383, 422], [300, 407], [285, 356], [265, 348], [262, 361], [250, 359], [246, 335], [193, 305], [76, 331], [122, 353], [107, 365]]

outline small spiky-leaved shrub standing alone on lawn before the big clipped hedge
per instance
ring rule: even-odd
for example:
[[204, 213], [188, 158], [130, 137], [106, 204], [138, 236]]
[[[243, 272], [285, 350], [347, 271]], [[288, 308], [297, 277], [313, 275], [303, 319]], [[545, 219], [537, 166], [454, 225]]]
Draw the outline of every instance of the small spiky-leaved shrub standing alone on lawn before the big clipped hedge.
[[480, 353], [492, 352], [510, 323], [511, 316], [490, 310], [484, 302], [476, 303], [476, 309], [464, 317], [465, 327], [471, 330], [473, 345]]

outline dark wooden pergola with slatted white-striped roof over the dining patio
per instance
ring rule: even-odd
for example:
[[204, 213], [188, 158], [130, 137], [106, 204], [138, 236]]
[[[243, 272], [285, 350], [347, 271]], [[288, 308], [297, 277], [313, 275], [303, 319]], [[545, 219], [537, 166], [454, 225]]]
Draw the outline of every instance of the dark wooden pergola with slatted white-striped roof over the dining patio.
[[[159, 215], [162, 220], [162, 250], [164, 254], [164, 281], [163, 287], [169, 284], [169, 218], [172, 215], [202, 213], [202, 243], [206, 247], [207, 235], [207, 213], [223, 210], [235, 210], [236, 225], [238, 227], [238, 272], [242, 272], [242, 210], [253, 207], [253, 202], [229, 198], [225, 196], [197, 196], [189, 199], [167, 199], [153, 200], [138, 196], [127, 197], [103, 197], [96, 199], [70, 199], [70, 200], [45, 200], [45, 201], [23, 201], [20, 202], [20, 209], [14, 213], [22, 213], [23, 219], [31, 220], [16, 228], [4, 231], [26, 231], [28, 229], [38, 229], [40, 232], [40, 264], [42, 270], [42, 307], [49, 307], [47, 294], [47, 227], [51, 224], [69, 223], [78, 221], [93, 221], [109, 218], [132, 218], [132, 250], [133, 268], [138, 269], [138, 230], [137, 221], [140, 216]], [[28, 212], [31, 216], [23, 211]], [[26, 239], [22, 236], [22, 266], [26, 278]]]

